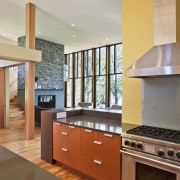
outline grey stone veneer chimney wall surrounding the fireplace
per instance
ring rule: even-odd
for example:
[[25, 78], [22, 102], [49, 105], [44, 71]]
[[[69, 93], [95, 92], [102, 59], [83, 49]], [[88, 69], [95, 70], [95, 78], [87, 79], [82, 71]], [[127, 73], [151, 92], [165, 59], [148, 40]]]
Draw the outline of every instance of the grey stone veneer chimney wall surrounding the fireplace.
[[[18, 45], [25, 47], [25, 36], [18, 38]], [[37, 96], [56, 95], [56, 108], [64, 107], [64, 45], [36, 38], [36, 50], [42, 51], [42, 62], [35, 64], [35, 76], [38, 77], [38, 87], [35, 90], [35, 105]], [[18, 67], [18, 99], [24, 106], [25, 65]], [[53, 91], [54, 90], [54, 91]], [[60, 98], [60, 99], [59, 99]]]

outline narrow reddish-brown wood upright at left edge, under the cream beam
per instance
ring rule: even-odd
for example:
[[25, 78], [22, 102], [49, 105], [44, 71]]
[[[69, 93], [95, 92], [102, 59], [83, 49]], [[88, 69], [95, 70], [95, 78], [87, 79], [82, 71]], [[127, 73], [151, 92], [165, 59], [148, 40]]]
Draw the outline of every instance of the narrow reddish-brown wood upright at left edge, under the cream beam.
[[5, 105], [5, 68], [0, 68], [0, 128], [4, 128], [4, 105]]

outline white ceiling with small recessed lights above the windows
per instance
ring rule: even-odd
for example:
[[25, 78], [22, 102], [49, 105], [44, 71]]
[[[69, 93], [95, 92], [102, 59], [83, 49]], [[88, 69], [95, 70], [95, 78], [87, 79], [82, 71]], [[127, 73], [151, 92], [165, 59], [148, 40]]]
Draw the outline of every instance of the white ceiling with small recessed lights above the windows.
[[[28, 2], [0, 0], [0, 42], [17, 44], [17, 38], [25, 35]], [[36, 5], [36, 37], [63, 44], [65, 53], [122, 41], [121, 0], [30, 2]]]

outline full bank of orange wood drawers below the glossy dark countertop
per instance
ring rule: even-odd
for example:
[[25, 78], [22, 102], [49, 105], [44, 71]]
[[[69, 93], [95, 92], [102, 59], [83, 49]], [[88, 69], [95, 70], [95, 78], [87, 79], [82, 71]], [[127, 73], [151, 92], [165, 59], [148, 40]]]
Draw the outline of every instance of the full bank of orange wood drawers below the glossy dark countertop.
[[120, 180], [120, 136], [54, 122], [53, 159], [98, 180]]

